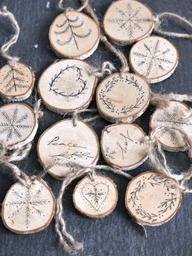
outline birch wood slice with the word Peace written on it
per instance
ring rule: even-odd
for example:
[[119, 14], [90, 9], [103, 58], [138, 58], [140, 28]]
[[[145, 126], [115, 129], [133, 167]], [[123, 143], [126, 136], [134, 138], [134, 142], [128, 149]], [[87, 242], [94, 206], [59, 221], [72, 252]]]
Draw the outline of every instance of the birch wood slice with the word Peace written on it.
[[85, 122], [78, 120], [73, 126], [72, 119], [68, 118], [44, 131], [37, 143], [37, 154], [44, 167], [55, 161], [66, 161], [66, 164], [58, 163], [49, 169], [55, 179], [63, 179], [78, 170], [70, 161], [84, 165], [98, 161], [98, 136]]

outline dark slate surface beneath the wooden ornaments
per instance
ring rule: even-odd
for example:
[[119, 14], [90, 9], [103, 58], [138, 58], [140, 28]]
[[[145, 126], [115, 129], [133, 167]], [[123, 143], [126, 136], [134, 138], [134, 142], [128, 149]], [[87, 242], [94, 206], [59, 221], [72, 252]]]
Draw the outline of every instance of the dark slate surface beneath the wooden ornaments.
[[[51, 21], [59, 14], [57, 1], [50, 1], [50, 8], [46, 8], [47, 0], [1, 0], [0, 7], [7, 5], [7, 8], [15, 14], [20, 24], [20, 40], [12, 48], [12, 53], [20, 56], [20, 60], [33, 67], [36, 71], [37, 79], [41, 72], [50, 65], [55, 59], [55, 54], [50, 50], [48, 41], [48, 29]], [[74, 4], [73, 1], [64, 1], [66, 7]], [[106, 11], [110, 0], [92, 0], [91, 3], [96, 9], [100, 18]], [[192, 2], [189, 0], [145, 0], [155, 13], [163, 11], [172, 11], [188, 18], [192, 17]], [[174, 28], [174, 23], [170, 23], [170, 29], [179, 31], [189, 31], [180, 24]], [[0, 19], [0, 44], [10, 36], [12, 29], [7, 20]], [[191, 64], [191, 46], [192, 42], [185, 39], [170, 39], [180, 52], [180, 63], [176, 73], [168, 80], [159, 82], [152, 87], [152, 90], [160, 92], [192, 93], [192, 64]], [[34, 45], [38, 45], [37, 49]], [[129, 47], [123, 47], [125, 55], [129, 53]], [[92, 64], [100, 65], [104, 60], [111, 60], [118, 67], [118, 60], [110, 52], [106, 51], [102, 44], [98, 51], [89, 58]], [[4, 60], [0, 58], [1, 64]], [[2, 104], [2, 102], [1, 102]], [[92, 104], [94, 105], [94, 103]], [[20, 168], [28, 174], [37, 174], [42, 170], [37, 161], [36, 145], [37, 139], [41, 133], [62, 117], [55, 113], [45, 110], [43, 119], [40, 122], [36, 138], [33, 143], [33, 150], [29, 156], [19, 163]], [[153, 108], [148, 108], [142, 117], [137, 119], [137, 124], [148, 132], [148, 123]], [[94, 129], [98, 135], [107, 125], [107, 121], [99, 120], [93, 123]], [[169, 164], [179, 173], [187, 170], [190, 165], [185, 152], [167, 153]], [[100, 163], [103, 163], [101, 158]], [[2, 167], [1, 167], [2, 168]], [[144, 170], [150, 170], [147, 163], [143, 164], [137, 170], [131, 171], [136, 175]], [[180, 210], [171, 221], [160, 227], [146, 227], [147, 237], [143, 235], [141, 227], [131, 221], [131, 218], [124, 209], [124, 192], [127, 186], [127, 180], [108, 174], [115, 180], [119, 190], [119, 201], [116, 210], [112, 214], [102, 219], [85, 218], [79, 214], [72, 205], [72, 190], [76, 183], [67, 189], [63, 198], [64, 218], [67, 221], [68, 231], [76, 237], [78, 241], [84, 241], [85, 250], [79, 255], [94, 256], [187, 256], [192, 255], [192, 221], [191, 221], [191, 195], [184, 195]], [[0, 202], [2, 202], [8, 188], [13, 181], [5, 174], [0, 178]], [[46, 176], [46, 182], [50, 184], [58, 194], [60, 183], [58, 180]], [[57, 237], [55, 237], [54, 221], [45, 231], [32, 235], [16, 235], [11, 233], [3, 226], [0, 221], [0, 254], [2, 256], [53, 256], [68, 255], [59, 246]]]

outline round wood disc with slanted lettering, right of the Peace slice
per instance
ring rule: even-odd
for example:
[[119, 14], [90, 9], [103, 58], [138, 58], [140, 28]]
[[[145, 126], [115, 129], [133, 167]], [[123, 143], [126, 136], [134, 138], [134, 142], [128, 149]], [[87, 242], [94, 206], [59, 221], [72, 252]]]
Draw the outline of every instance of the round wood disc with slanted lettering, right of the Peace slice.
[[101, 137], [101, 150], [110, 166], [132, 170], [142, 165], [147, 147], [142, 143], [146, 134], [135, 124], [123, 123], [105, 127]]

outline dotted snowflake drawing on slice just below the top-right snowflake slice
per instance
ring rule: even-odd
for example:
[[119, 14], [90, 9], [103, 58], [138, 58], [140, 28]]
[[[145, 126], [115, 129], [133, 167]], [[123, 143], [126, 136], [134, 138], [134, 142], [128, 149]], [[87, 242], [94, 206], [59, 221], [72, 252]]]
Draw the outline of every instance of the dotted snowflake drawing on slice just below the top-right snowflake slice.
[[[172, 64], [171, 60], [168, 60], [166, 55], [170, 53], [170, 49], [162, 50], [160, 47], [160, 40], [156, 40], [154, 46], [147, 46], [146, 43], [143, 44], [143, 47], [146, 51], [133, 51], [133, 55], [138, 58], [138, 67], [142, 67], [142, 65], [146, 65], [146, 73], [144, 73], [145, 77], [150, 77], [151, 72], [154, 70], [156, 72], [166, 71], [167, 68]], [[139, 60], [141, 59], [141, 61]]]

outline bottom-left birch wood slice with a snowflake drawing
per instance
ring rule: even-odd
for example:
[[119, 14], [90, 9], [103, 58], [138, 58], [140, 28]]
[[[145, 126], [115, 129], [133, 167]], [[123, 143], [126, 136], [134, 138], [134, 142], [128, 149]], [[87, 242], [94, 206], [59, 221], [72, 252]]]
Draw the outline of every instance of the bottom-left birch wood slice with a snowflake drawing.
[[11, 232], [28, 234], [46, 228], [55, 213], [55, 197], [36, 179], [30, 187], [15, 183], [2, 203], [2, 221]]

